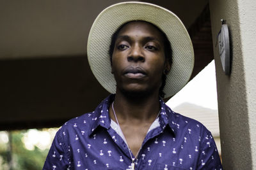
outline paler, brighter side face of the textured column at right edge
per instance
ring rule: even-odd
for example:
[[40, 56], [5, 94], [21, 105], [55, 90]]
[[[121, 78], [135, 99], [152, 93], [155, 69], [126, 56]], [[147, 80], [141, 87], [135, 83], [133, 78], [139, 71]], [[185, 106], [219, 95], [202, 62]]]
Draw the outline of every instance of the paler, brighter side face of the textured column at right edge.
[[253, 169], [256, 169], [256, 1], [238, 1]]

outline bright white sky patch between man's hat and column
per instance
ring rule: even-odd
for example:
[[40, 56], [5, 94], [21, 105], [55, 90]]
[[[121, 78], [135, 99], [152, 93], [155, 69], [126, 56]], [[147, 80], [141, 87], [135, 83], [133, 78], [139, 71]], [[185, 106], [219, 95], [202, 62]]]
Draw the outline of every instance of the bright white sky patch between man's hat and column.
[[166, 104], [170, 108], [175, 108], [182, 103], [192, 103], [204, 108], [218, 110], [214, 60]]

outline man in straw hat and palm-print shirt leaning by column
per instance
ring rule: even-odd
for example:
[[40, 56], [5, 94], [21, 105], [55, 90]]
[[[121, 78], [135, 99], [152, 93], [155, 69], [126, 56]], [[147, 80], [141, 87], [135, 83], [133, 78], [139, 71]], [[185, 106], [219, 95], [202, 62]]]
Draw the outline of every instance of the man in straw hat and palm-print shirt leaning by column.
[[113, 94], [61, 127], [44, 169], [222, 168], [211, 132], [162, 100], [193, 69], [191, 40], [172, 12], [138, 2], [110, 6], [93, 23], [88, 60]]

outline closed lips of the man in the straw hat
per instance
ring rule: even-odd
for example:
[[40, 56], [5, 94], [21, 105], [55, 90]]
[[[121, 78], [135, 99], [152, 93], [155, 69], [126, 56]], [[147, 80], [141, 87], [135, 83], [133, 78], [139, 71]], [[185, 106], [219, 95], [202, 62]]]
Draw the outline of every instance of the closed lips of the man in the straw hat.
[[146, 76], [145, 71], [141, 67], [127, 67], [124, 70], [124, 76], [131, 79], [139, 79]]

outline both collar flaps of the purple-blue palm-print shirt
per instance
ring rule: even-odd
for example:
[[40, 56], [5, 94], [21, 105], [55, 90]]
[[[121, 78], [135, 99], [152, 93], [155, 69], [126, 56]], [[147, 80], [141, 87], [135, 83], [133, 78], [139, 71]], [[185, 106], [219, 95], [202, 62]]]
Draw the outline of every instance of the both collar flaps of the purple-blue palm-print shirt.
[[[106, 129], [110, 128], [111, 120], [109, 117], [109, 106], [114, 101], [115, 94], [111, 94], [106, 99], [104, 99], [99, 106], [92, 112], [92, 124], [90, 125], [90, 133], [91, 136], [99, 125]], [[172, 129], [174, 135], [176, 136], [177, 126], [173, 123], [173, 119], [175, 117], [175, 113], [164, 103], [163, 99], [159, 99], [161, 111], [159, 114], [159, 124], [160, 127], [164, 130], [166, 125], [169, 125]], [[88, 115], [89, 116], [89, 115]]]

